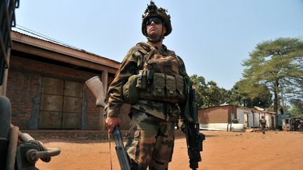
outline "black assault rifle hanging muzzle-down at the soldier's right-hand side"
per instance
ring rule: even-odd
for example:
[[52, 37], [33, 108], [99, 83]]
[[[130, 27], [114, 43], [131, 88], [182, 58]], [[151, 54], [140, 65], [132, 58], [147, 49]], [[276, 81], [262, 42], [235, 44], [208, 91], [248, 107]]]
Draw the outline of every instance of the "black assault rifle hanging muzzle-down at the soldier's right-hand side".
[[200, 152], [203, 150], [203, 141], [205, 135], [199, 132], [198, 113], [196, 108], [196, 90], [190, 85], [189, 98], [185, 106], [184, 113], [181, 114], [183, 125], [182, 132], [186, 135], [187, 153], [189, 155], [189, 167], [198, 168], [198, 162], [201, 162]]

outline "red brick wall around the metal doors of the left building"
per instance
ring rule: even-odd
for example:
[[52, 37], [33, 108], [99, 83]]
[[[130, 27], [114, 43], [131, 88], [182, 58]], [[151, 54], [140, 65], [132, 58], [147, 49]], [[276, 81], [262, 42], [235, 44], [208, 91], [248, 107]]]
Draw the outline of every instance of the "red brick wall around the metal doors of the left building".
[[[100, 108], [95, 107], [95, 97], [84, 82], [96, 76], [95, 73], [79, 71], [55, 64], [47, 64], [32, 59], [11, 56], [6, 95], [12, 103], [12, 123], [20, 129], [37, 129], [41, 78], [43, 76], [73, 80], [83, 83], [83, 104], [86, 105], [83, 129], [100, 129]], [[108, 78], [111, 82], [112, 78]], [[126, 122], [126, 124], [128, 124]]]

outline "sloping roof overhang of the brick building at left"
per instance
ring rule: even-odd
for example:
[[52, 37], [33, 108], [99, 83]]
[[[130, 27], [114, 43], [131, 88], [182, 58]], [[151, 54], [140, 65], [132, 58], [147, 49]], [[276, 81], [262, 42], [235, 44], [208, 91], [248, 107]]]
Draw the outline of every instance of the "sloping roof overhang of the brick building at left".
[[114, 74], [120, 66], [120, 62], [112, 59], [20, 34], [16, 31], [12, 31], [11, 38], [13, 42], [11, 50], [26, 52], [36, 57], [44, 57], [98, 71], [108, 71], [108, 73]]

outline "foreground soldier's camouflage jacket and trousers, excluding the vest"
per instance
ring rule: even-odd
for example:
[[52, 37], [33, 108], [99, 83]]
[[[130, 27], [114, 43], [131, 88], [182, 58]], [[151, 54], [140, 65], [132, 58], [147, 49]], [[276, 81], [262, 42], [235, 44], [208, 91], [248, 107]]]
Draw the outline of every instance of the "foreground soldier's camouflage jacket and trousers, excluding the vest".
[[[143, 47], [142, 47], [143, 46]], [[109, 99], [106, 106], [108, 117], [119, 117], [123, 105], [122, 87], [128, 78], [137, 73], [147, 55], [144, 45], [138, 43], [131, 48], [121, 63], [119, 71], [109, 86]], [[173, 53], [163, 45], [159, 51], [163, 56]], [[185, 71], [184, 62], [180, 61], [180, 74], [189, 78]], [[139, 169], [166, 169], [171, 161], [174, 143], [174, 127], [178, 115], [184, 109], [184, 104], [172, 104], [163, 101], [139, 99], [131, 105], [130, 130], [126, 150], [132, 162], [139, 164]], [[160, 168], [159, 168], [160, 166]], [[161, 168], [162, 166], [162, 168]], [[166, 167], [166, 168], [165, 168]]]

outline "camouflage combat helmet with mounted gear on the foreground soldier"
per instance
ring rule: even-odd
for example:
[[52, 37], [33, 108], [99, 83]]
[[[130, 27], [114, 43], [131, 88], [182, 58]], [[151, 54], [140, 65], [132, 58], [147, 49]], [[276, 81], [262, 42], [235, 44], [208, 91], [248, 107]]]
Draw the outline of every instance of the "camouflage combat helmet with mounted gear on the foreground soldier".
[[166, 14], [166, 12], [166, 9], [158, 8], [153, 1], [150, 1], [144, 15], [142, 15], [142, 34], [147, 36], [146, 22], [149, 17], [161, 17], [163, 20], [163, 25], [166, 27], [166, 34], [164, 34], [164, 36], [168, 36], [173, 28], [171, 27], [170, 23], [170, 15]]

